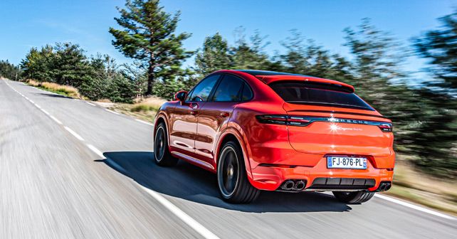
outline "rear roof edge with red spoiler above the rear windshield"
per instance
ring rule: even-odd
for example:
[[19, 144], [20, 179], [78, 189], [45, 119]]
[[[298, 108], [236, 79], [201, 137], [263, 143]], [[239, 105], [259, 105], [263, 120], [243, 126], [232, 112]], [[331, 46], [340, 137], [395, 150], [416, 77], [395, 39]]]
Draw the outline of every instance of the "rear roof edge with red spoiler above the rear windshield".
[[317, 78], [310, 75], [300, 75], [300, 74], [293, 74], [293, 73], [280, 73], [275, 71], [268, 71], [268, 70], [234, 70], [242, 73], [247, 73], [249, 75], [253, 75], [256, 78], [262, 80], [266, 84], [270, 84], [276, 81], [283, 81], [283, 80], [305, 80], [312, 83], [322, 83], [322, 84], [332, 84], [337, 85], [340, 87], [344, 87], [350, 92], [354, 92], [354, 87], [352, 85], [342, 83], [337, 80], [329, 80], [325, 78]]

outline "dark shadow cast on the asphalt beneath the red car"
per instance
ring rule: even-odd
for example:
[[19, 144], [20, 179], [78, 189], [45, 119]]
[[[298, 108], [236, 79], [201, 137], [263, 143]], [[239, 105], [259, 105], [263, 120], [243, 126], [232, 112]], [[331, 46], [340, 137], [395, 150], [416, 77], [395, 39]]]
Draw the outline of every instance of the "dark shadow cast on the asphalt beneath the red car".
[[350, 211], [352, 208], [325, 193], [281, 193], [263, 191], [251, 204], [230, 204], [221, 200], [216, 175], [184, 161], [174, 167], [154, 164], [152, 152], [105, 152], [103, 161], [138, 184], [196, 203], [250, 213]]

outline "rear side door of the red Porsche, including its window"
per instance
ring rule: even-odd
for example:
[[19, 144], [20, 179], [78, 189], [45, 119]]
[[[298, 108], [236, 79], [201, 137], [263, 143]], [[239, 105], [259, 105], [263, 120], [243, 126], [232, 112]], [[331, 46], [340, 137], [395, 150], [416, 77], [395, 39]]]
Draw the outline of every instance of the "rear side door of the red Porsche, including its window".
[[[224, 74], [219, 80], [211, 99], [201, 107], [197, 122], [195, 139], [196, 154], [204, 156], [205, 161], [214, 164], [214, 149], [219, 134], [229, 122], [231, 113], [240, 102], [244, 80], [235, 75]], [[246, 87], [248, 87], [246, 85]]]

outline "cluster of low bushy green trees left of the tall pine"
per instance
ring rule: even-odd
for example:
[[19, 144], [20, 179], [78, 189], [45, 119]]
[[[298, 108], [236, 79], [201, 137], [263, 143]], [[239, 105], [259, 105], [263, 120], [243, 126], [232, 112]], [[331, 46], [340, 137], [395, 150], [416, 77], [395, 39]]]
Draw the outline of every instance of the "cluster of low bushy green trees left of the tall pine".
[[109, 55], [88, 58], [72, 43], [31, 48], [21, 62], [24, 78], [78, 88], [90, 100], [132, 102], [137, 95], [135, 80], [127, 77]]

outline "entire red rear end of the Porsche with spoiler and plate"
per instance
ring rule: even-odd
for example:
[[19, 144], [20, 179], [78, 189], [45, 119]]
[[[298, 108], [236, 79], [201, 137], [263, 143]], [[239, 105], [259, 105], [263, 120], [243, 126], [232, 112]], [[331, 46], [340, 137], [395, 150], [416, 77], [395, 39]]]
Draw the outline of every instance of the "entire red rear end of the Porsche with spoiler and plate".
[[258, 78], [283, 102], [277, 112], [256, 115], [256, 129], [275, 131], [278, 137], [251, 139], [256, 142], [251, 151], [257, 152], [251, 156], [254, 186], [279, 191], [390, 188], [392, 122], [355, 95], [352, 86], [305, 76]]

